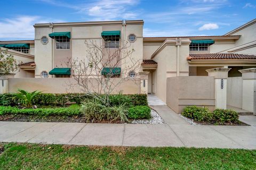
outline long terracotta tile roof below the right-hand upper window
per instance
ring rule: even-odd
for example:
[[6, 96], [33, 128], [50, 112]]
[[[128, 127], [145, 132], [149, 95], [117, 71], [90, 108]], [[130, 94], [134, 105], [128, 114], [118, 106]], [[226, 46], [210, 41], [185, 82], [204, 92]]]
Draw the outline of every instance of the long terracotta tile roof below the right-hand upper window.
[[212, 53], [212, 54], [189, 54], [188, 60], [229, 60], [250, 59], [256, 60], [256, 55], [234, 54], [234, 53]]

